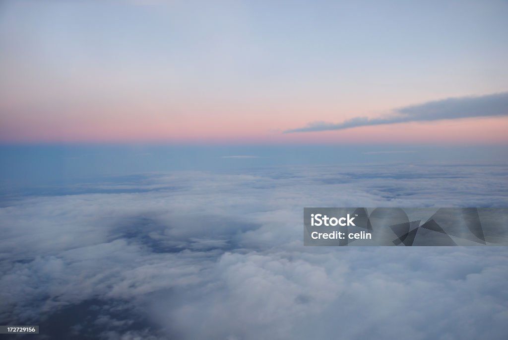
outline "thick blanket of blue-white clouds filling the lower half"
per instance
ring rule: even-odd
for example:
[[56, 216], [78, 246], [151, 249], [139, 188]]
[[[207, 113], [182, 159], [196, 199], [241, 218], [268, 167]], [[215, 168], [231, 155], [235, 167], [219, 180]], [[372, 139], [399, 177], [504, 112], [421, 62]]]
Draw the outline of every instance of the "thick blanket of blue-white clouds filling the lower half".
[[505, 206], [507, 175], [173, 172], [4, 201], [0, 322], [39, 324], [46, 338], [503, 339], [504, 248], [303, 247], [301, 209]]

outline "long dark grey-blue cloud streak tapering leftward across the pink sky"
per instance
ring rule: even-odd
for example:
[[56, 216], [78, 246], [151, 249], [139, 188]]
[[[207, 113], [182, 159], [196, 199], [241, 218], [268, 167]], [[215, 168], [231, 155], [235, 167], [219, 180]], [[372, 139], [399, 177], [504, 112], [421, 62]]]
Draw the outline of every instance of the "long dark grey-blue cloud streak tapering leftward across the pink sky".
[[499, 94], [448, 98], [394, 109], [391, 115], [381, 118], [355, 117], [341, 123], [314, 121], [284, 133], [345, 130], [363, 126], [394, 124], [410, 121], [432, 121], [470, 117], [508, 115], [508, 92]]

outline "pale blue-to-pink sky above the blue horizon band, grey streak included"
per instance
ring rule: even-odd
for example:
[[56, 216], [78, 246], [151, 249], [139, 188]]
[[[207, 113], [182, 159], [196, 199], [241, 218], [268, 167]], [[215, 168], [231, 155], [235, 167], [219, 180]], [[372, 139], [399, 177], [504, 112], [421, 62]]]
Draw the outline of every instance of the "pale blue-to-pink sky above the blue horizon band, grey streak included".
[[506, 17], [506, 1], [7, 0], [0, 142], [506, 145]]

